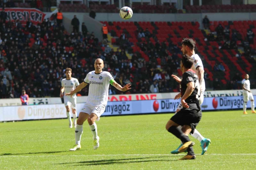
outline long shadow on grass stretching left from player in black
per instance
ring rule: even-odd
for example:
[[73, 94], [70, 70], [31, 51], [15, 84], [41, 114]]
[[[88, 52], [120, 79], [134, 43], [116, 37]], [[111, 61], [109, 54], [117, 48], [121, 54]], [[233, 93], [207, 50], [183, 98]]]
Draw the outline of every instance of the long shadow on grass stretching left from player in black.
[[[72, 166], [92, 166], [92, 165], [125, 164], [125, 163], [155, 162], [155, 161], [177, 161], [177, 160], [159, 160], [159, 159], [158, 160], [140, 160], [140, 159], [167, 158], [167, 157], [168, 156], [146, 157], [146, 158], [128, 158], [128, 159], [109, 159], [109, 160], [95, 160], [95, 161], [82, 161], [82, 162], [72, 162], [72, 163], [79, 163], [78, 165], [72, 165]], [[172, 157], [176, 157], [176, 156], [172, 156]], [[170, 158], [170, 157], [168, 157], [168, 158]], [[59, 163], [59, 164], [71, 164], [71, 163]]]

